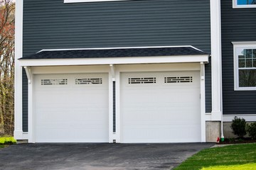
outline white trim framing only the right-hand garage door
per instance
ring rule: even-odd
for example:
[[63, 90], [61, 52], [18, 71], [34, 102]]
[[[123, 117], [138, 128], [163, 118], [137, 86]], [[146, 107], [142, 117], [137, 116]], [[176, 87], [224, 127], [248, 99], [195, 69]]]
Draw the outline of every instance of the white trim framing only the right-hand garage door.
[[[137, 65], [119, 65], [116, 67], [116, 84], [121, 83], [120, 74], [122, 72], [178, 72], [178, 71], [198, 71], [200, 73], [200, 92], [201, 92], [201, 142], [206, 142], [206, 94], [205, 94], [205, 65], [201, 63], [176, 63], [176, 64], [137, 64]], [[116, 118], [117, 132], [114, 134], [116, 142], [122, 142], [121, 139], [121, 89], [116, 86]]]

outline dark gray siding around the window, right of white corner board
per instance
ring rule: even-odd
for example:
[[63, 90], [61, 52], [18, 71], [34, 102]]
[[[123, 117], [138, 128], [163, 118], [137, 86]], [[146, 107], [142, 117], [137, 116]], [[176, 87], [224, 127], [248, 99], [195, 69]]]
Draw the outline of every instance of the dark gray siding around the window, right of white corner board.
[[223, 57], [223, 114], [255, 114], [256, 91], [234, 91], [233, 44], [256, 41], [256, 8], [232, 8], [221, 1]]

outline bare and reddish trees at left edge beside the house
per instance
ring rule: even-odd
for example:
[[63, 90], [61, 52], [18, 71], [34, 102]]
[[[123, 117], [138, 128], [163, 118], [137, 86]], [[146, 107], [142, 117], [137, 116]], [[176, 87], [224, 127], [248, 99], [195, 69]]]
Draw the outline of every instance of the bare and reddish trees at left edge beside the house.
[[15, 4], [0, 0], [0, 135], [14, 131]]

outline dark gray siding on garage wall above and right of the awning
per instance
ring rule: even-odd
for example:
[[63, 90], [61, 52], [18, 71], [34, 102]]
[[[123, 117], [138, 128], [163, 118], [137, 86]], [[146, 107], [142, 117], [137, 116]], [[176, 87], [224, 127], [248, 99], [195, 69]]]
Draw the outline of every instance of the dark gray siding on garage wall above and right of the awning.
[[[210, 53], [210, 0], [23, 0], [23, 55], [42, 49], [193, 45]], [[210, 64], [206, 66], [210, 75]], [[210, 77], [206, 77], [210, 112]]]

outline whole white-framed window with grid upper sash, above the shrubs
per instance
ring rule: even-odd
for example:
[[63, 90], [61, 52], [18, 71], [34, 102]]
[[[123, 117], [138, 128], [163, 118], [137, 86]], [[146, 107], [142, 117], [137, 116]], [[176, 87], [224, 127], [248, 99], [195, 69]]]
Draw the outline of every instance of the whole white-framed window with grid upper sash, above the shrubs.
[[235, 90], [256, 90], [256, 42], [233, 42]]

